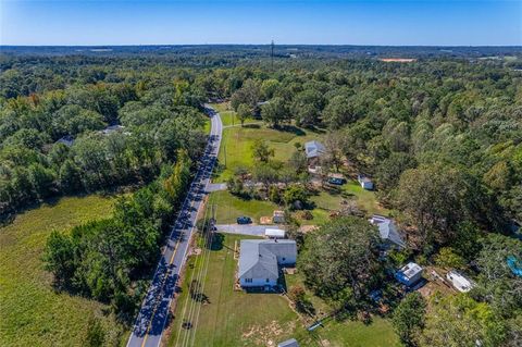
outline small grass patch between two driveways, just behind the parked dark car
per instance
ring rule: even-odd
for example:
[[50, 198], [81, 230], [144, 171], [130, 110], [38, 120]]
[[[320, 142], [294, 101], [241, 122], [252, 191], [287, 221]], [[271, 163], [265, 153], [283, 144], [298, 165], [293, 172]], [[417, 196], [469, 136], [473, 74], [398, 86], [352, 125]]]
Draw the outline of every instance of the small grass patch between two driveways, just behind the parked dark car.
[[227, 190], [214, 191], [210, 195], [210, 199], [216, 201], [217, 224], [236, 223], [236, 219], [240, 215], [250, 216], [254, 223], [259, 223], [261, 216], [271, 216], [274, 210], [278, 209], [271, 201], [245, 200], [233, 196]]

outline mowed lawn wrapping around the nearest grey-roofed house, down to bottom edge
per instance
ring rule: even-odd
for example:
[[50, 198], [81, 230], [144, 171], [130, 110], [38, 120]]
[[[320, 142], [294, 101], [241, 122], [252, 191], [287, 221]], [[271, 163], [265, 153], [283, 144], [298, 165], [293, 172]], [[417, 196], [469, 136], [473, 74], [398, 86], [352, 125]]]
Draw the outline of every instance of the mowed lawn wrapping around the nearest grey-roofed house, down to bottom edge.
[[[221, 238], [222, 237], [222, 238]], [[301, 346], [395, 346], [397, 338], [387, 320], [375, 318], [369, 325], [360, 322], [328, 322], [310, 334], [285, 297], [277, 294], [246, 294], [233, 289], [237, 260], [234, 244], [241, 235], [223, 235], [221, 243], [200, 256], [191, 257], [187, 267], [182, 294], [171, 325], [167, 346], [239, 347], [276, 346], [295, 337]], [[207, 255], [209, 258], [203, 261]], [[207, 303], [197, 303], [188, 294], [188, 283], [207, 263], [203, 294]], [[297, 275], [294, 275], [297, 276]], [[203, 284], [204, 283], [204, 284]], [[190, 309], [194, 314], [189, 318]], [[196, 319], [199, 317], [199, 319]], [[184, 321], [192, 327], [182, 327]], [[320, 343], [322, 342], [322, 344]]]

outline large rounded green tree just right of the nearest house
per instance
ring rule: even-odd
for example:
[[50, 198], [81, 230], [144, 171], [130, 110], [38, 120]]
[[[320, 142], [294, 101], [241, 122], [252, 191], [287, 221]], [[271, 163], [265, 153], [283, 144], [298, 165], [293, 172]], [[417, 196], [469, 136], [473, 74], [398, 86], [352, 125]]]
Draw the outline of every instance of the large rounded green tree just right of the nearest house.
[[319, 296], [340, 308], [357, 305], [381, 281], [380, 243], [366, 220], [337, 218], [307, 235], [298, 269]]

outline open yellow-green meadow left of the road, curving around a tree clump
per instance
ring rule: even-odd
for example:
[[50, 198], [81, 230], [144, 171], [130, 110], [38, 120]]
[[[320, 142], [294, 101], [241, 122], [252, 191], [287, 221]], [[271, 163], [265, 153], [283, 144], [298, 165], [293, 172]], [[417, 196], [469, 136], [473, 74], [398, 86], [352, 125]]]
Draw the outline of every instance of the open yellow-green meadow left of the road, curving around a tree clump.
[[62, 198], [16, 216], [0, 228], [0, 345], [84, 346], [88, 321], [101, 319], [108, 339], [121, 329], [102, 311], [107, 306], [57, 293], [42, 269], [41, 255], [53, 230], [69, 231], [89, 220], [110, 216], [112, 199], [100, 196]]

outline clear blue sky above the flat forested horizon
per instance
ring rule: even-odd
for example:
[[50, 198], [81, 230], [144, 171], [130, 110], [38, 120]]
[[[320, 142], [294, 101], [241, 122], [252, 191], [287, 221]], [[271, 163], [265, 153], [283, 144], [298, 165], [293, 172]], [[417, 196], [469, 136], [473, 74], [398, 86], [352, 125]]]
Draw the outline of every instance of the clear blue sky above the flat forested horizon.
[[522, 0], [0, 0], [0, 45], [522, 46]]

